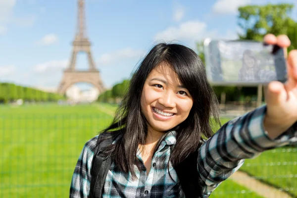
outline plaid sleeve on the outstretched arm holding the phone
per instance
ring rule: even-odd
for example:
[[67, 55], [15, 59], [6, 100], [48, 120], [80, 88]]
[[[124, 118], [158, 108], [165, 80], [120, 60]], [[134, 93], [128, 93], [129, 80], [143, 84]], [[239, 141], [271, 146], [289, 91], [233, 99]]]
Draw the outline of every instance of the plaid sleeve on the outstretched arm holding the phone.
[[266, 106], [224, 124], [199, 149], [198, 172], [204, 195], [230, 177], [245, 158], [258, 156], [264, 150], [297, 143], [297, 123], [271, 140], [264, 130]]

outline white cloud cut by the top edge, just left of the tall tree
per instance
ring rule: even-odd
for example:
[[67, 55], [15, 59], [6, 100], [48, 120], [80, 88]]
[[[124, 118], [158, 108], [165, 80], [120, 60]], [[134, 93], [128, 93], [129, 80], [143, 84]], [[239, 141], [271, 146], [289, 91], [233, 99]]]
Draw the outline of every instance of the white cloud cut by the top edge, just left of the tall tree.
[[251, 0], [217, 0], [212, 10], [219, 14], [235, 14], [239, 6], [250, 4]]

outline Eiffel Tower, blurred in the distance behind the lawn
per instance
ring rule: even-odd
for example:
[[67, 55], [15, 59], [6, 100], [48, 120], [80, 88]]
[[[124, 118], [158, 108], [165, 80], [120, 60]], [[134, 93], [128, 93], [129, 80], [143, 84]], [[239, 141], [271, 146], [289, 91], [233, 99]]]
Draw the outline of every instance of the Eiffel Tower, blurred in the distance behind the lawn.
[[[85, 52], [88, 55], [89, 69], [86, 71], [75, 69], [77, 54], [79, 52]], [[92, 57], [91, 43], [86, 35], [85, 0], [78, 0], [78, 23], [75, 39], [72, 42], [70, 64], [64, 70], [64, 75], [57, 92], [64, 95], [71, 85], [78, 82], [86, 82], [94, 85], [99, 90], [99, 93], [102, 93], [104, 86], [99, 73]]]

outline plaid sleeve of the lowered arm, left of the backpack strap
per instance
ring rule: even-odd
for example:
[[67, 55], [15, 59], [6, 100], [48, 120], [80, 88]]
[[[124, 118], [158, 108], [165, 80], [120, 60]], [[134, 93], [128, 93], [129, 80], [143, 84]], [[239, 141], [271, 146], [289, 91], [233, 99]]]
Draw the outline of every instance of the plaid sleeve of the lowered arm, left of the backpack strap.
[[89, 140], [76, 163], [70, 185], [69, 198], [87, 198], [91, 183], [91, 166], [98, 136]]

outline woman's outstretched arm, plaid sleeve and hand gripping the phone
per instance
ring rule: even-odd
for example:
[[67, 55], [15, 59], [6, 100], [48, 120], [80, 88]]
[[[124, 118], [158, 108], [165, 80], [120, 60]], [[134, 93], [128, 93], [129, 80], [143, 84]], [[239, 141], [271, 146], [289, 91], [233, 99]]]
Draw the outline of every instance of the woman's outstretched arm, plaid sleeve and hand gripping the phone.
[[[269, 34], [264, 42], [282, 48], [290, 46], [285, 35]], [[289, 53], [287, 71], [285, 84], [269, 83], [267, 105], [229, 121], [199, 149], [198, 171], [205, 195], [238, 170], [245, 158], [297, 143], [297, 50]]]

